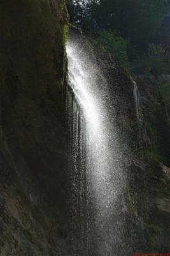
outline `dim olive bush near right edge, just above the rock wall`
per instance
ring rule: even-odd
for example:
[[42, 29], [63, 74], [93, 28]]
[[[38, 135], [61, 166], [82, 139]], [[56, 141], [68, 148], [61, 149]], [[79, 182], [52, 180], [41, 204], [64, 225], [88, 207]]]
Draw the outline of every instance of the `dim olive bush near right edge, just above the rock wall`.
[[143, 58], [143, 67], [146, 74], [151, 72], [159, 75], [166, 70], [166, 51], [162, 45], [149, 45], [148, 52]]

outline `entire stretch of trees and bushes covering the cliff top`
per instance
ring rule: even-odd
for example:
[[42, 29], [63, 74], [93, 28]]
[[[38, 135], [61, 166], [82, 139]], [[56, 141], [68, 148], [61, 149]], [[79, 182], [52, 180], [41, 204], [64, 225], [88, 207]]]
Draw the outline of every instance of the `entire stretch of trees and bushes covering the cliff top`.
[[133, 72], [169, 72], [169, 0], [70, 0], [67, 8], [71, 22]]

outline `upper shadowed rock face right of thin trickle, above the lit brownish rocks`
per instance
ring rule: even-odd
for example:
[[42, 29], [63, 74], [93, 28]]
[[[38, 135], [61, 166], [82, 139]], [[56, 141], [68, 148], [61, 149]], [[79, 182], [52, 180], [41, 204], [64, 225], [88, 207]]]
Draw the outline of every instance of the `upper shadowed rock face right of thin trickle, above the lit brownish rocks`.
[[148, 154], [170, 164], [169, 82], [168, 76], [137, 76], [143, 113], [143, 146]]

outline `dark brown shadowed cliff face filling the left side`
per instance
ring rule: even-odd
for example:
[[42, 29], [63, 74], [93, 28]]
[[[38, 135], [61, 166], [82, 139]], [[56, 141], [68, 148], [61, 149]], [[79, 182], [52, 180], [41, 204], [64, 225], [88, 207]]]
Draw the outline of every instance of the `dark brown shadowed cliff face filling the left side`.
[[63, 1], [1, 1], [0, 17], [0, 254], [56, 255], [66, 241], [67, 12]]

